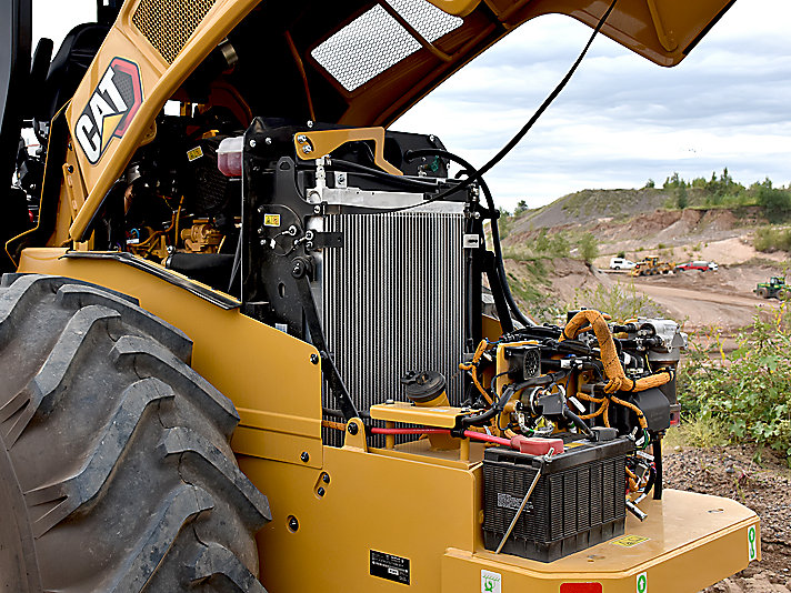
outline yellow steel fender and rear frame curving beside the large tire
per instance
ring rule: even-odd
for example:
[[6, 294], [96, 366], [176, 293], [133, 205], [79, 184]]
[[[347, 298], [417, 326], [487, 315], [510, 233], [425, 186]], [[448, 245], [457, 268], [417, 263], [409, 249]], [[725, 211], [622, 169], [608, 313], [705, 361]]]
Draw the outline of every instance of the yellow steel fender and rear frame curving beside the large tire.
[[400, 591], [403, 585], [370, 574], [372, 550], [409, 559], [415, 593], [478, 591], [483, 570], [499, 574], [508, 593], [557, 593], [561, 583], [591, 581], [607, 593], [625, 593], [635, 591], [641, 574], [651, 591], [694, 592], [749, 562], [748, 532], [758, 530], [752, 511], [675, 491], [641, 504], [645, 523], [628, 516], [627, 535], [644, 539], [638, 545], [609, 541], [548, 564], [487, 551], [481, 444], [461, 459], [458, 451], [430, 450], [427, 441], [369, 449], [353, 420], [358, 430], [346, 433], [346, 446], [324, 446], [313, 346], [122, 262], [64, 253], [28, 249], [20, 271], [137, 296], [194, 341], [193, 366], [239, 409], [233, 449], [274, 517], [258, 534], [261, 579], [271, 593]]

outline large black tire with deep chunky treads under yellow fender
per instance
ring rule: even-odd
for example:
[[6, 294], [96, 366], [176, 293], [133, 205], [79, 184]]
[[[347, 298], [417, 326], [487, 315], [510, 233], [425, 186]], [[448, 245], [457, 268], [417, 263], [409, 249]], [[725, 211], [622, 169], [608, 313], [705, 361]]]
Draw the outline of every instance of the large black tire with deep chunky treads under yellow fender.
[[263, 592], [267, 497], [191, 341], [129, 296], [0, 284], [0, 591]]

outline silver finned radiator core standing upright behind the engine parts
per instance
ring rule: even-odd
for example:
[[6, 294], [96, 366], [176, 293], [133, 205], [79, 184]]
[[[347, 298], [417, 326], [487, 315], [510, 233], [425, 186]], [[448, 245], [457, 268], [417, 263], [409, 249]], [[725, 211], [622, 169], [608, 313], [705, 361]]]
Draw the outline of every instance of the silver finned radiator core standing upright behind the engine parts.
[[324, 251], [324, 333], [358, 409], [404, 401], [400, 379], [409, 370], [442, 373], [459, 404], [463, 215], [333, 215], [327, 230], [342, 232], [344, 247]]

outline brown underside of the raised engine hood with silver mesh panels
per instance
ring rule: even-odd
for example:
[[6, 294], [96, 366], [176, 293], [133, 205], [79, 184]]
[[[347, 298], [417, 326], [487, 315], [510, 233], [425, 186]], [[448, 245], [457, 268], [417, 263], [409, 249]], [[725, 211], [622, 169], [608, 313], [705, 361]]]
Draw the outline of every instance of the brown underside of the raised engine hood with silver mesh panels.
[[[734, 1], [618, 0], [601, 32], [672, 67]], [[309, 84], [316, 89], [314, 104], [339, 109], [319, 119], [388, 125], [524, 22], [560, 13], [595, 27], [610, 0], [379, 0], [331, 2], [331, 8], [309, 3], [310, 9], [286, 22], [308, 81], [314, 74], [322, 79]], [[272, 4], [267, 4], [258, 10], [269, 12]]]

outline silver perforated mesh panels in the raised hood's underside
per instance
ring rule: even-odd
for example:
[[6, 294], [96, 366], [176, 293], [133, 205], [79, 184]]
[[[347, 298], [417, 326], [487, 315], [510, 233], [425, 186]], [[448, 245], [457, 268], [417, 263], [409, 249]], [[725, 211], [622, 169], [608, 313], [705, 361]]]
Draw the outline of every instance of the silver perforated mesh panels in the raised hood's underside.
[[[425, 0], [387, 0], [425, 40], [435, 41], [463, 22]], [[353, 91], [420, 49], [420, 43], [380, 4], [317, 47], [311, 56]]]

